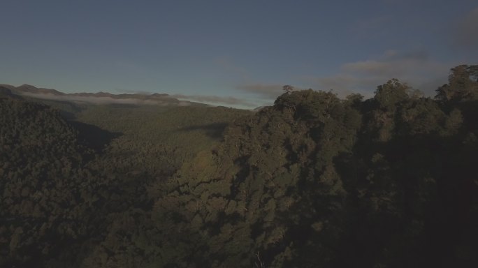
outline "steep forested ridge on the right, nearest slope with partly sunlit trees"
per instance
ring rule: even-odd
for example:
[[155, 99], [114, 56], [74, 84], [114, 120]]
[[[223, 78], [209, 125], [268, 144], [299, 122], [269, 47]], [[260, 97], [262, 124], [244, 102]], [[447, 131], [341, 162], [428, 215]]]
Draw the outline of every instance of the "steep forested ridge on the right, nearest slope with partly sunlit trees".
[[284, 94], [184, 165], [154, 212], [179, 218], [174, 247], [199, 266], [476, 264], [476, 107], [398, 80], [367, 101]]

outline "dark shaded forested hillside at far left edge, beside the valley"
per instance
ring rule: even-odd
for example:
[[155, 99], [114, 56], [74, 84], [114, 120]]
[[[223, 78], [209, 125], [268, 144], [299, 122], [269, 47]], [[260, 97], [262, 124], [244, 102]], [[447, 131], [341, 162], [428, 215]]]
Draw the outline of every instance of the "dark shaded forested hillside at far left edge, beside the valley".
[[56, 258], [72, 239], [89, 234], [97, 220], [85, 195], [98, 195], [101, 181], [82, 168], [92, 150], [56, 110], [5, 96], [0, 96], [0, 265], [33, 265], [41, 256]]

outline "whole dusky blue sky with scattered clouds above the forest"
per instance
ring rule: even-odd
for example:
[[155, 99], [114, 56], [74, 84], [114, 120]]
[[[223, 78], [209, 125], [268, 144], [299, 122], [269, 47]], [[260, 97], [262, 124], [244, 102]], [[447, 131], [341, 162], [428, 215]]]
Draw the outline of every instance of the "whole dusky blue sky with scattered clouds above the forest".
[[253, 108], [282, 86], [432, 96], [478, 64], [476, 0], [0, 0], [0, 84]]

